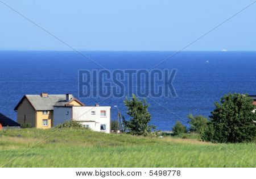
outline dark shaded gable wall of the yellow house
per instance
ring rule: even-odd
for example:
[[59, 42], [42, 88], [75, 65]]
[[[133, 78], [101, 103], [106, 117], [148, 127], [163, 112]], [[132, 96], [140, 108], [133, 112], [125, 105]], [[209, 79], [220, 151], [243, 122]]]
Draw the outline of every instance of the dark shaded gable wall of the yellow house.
[[36, 111], [28, 102], [27, 98], [24, 98], [17, 109], [17, 122], [19, 124], [26, 124], [31, 127], [36, 127]]

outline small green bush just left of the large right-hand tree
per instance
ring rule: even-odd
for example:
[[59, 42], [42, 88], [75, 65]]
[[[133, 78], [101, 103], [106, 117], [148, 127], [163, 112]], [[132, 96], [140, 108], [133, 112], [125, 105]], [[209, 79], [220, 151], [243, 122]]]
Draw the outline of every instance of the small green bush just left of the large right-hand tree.
[[208, 120], [203, 115], [193, 116], [192, 114], [189, 114], [188, 119], [190, 119], [188, 122], [190, 124], [190, 132], [201, 133], [204, 131], [205, 127], [207, 127]]

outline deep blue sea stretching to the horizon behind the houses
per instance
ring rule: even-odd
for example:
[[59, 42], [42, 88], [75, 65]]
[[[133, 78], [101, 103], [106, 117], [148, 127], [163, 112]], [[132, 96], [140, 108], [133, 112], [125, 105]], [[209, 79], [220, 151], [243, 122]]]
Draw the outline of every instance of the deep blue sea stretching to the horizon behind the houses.
[[[113, 70], [150, 69], [174, 52], [82, 53]], [[158, 68], [178, 70], [174, 80], [176, 98], [157, 98], [158, 103], [147, 99], [151, 123], [159, 130], [170, 130], [176, 120], [186, 124], [189, 113], [209, 116], [214, 101], [226, 93], [256, 94], [256, 52], [181, 52]], [[78, 69], [99, 67], [76, 52], [0, 51], [0, 113], [16, 120], [13, 109], [24, 94], [47, 91], [78, 96]], [[101, 100], [81, 99], [86, 105]], [[118, 105], [122, 113], [126, 111], [123, 99], [106, 99], [100, 105], [112, 106], [112, 119], [116, 119], [117, 114], [114, 105]]]

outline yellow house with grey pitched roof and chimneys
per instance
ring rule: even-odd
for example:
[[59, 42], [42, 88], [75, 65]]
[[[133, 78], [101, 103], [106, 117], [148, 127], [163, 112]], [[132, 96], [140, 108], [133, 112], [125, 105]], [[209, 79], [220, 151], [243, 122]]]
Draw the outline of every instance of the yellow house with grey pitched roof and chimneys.
[[15, 107], [17, 122], [35, 128], [53, 127], [53, 106], [85, 106], [72, 94], [24, 95]]

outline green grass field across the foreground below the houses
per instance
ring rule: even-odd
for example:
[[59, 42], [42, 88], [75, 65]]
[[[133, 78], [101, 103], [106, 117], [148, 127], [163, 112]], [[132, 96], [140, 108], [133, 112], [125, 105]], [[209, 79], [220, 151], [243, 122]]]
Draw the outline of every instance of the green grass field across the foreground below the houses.
[[0, 131], [0, 156], [1, 167], [253, 167], [256, 144], [27, 128]]

